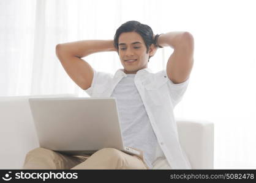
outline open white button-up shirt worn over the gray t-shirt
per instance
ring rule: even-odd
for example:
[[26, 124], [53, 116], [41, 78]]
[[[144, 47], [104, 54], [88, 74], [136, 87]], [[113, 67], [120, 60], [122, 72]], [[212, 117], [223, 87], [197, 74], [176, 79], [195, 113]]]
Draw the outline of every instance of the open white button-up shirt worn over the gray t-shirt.
[[[91, 87], [85, 91], [91, 97], [110, 97], [122, 77], [127, 77], [122, 69], [114, 75], [94, 70]], [[166, 70], [152, 73], [149, 68], [145, 68], [137, 71], [134, 82], [170, 167], [191, 169], [186, 153], [179, 143], [173, 113], [174, 107], [183, 98], [189, 79], [181, 84], [173, 84]]]

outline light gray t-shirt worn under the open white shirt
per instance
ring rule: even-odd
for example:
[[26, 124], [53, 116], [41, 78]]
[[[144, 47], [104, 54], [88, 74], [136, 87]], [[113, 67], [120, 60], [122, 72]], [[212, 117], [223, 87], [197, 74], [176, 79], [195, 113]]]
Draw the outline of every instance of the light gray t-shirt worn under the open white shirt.
[[127, 74], [116, 85], [111, 97], [116, 98], [124, 146], [143, 151], [145, 162], [152, 168], [158, 146], [156, 134], [134, 83], [135, 74]]

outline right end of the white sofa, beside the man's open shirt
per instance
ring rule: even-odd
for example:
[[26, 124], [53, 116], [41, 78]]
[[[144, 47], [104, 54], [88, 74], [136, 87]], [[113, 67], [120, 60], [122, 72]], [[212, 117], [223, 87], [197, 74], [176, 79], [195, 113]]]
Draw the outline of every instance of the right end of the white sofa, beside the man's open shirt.
[[214, 168], [214, 123], [176, 119], [179, 142], [192, 169]]

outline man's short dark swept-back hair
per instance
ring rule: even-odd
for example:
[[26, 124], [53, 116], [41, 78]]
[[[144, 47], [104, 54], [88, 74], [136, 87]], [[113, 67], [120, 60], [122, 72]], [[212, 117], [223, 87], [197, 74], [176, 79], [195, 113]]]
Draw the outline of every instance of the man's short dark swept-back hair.
[[[132, 20], [127, 21], [126, 23], [122, 24], [117, 30], [114, 37], [114, 45], [115, 48], [118, 50], [118, 38], [122, 34], [122, 32], [137, 32], [143, 38], [145, 45], [146, 45], [146, 53], [148, 53], [149, 46], [154, 44], [153, 40], [153, 31], [151, 27], [146, 24], [141, 24], [138, 21]], [[119, 51], [118, 51], [119, 54]], [[149, 56], [150, 59], [151, 56]], [[149, 62], [148, 59], [148, 62]]]

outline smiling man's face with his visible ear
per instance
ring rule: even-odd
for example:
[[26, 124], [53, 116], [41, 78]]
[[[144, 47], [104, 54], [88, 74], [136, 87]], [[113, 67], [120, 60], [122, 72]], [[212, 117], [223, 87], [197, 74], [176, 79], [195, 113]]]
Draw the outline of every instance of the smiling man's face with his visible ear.
[[[149, 56], [152, 56], [154, 45], [151, 45], [146, 53], [146, 45], [143, 38], [137, 32], [123, 32], [118, 38], [118, 52], [124, 73], [136, 74], [138, 70], [148, 68]], [[134, 60], [127, 62], [126, 60]]]

